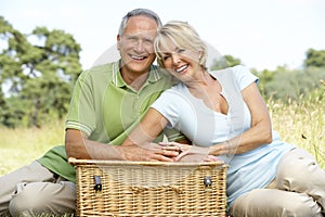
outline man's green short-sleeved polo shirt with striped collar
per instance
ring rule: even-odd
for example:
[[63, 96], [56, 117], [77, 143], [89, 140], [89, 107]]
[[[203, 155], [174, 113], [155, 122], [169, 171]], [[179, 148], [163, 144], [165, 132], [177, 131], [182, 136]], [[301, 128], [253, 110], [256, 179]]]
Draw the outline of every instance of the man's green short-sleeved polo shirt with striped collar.
[[[123, 81], [119, 62], [84, 71], [75, 85], [66, 128], [81, 130], [93, 141], [119, 145], [150, 105], [172, 84], [173, 78], [156, 66], [151, 67], [150, 76], [139, 91]], [[183, 138], [176, 131], [167, 132], [167, 137], [172, 141]], [[161, 140], [162, 135], [156, 142]], [[76, 181], [64, 145], [54, 146], [39, 162], [55, 174]]]

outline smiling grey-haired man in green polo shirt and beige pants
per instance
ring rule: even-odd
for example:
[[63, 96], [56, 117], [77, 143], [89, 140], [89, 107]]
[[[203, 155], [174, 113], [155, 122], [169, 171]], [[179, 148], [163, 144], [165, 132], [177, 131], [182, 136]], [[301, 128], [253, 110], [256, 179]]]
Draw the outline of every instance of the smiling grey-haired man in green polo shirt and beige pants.
[[[120, 61], [84, 71], [78, 78], [66, 122], [65, 146], [55, 146], [30, 165], [0, 178], [0, 214], [34, 216], [75, 212], [75, 169], [67, 157], [172, 161], [178, 152], [157, 144], [119, 145], [171, 84], [152, 65], [153, 41], [161, 26], [152, 11], [136, 9], [120, 24]], [[170, 140], [184, 140], [176, 131]], [[160, 135], [156, 141], [161, 141]], [[110, 144], [110, 145], [107, 145]]]

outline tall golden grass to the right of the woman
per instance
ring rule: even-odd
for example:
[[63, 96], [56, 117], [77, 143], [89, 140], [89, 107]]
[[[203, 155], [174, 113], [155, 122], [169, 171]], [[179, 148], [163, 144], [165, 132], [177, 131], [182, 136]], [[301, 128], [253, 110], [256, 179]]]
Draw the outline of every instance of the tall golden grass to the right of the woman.
[[323, 100], [313, 102], [288, 101], [288, 104], [270, 101], [273, 129], [282, 140], [309, 151], [325, 168], [325, 113]]

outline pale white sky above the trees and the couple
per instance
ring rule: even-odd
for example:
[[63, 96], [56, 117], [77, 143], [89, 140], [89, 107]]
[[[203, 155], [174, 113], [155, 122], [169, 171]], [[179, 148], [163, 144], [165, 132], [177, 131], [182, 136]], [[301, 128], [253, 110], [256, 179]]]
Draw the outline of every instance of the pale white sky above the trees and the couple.
[[300, 68], [308, 49], [325, 50], [325, 0], [0, 0], [0, 16], [23, 34], [72, 34], [87, 69], [114, 51], [121, 17], [135, 8], [188, 22], [213, 51], [258, 71]]

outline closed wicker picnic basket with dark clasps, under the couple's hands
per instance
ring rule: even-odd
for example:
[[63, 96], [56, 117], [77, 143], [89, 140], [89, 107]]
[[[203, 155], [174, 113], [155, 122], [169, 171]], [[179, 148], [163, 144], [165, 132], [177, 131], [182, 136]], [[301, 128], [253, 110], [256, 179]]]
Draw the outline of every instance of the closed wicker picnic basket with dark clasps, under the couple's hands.
[[77, 216], [225, 216], [227, 166], [69, 158]]

